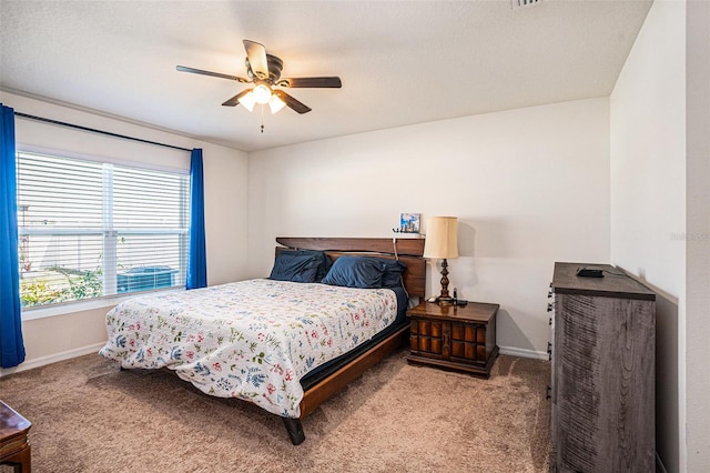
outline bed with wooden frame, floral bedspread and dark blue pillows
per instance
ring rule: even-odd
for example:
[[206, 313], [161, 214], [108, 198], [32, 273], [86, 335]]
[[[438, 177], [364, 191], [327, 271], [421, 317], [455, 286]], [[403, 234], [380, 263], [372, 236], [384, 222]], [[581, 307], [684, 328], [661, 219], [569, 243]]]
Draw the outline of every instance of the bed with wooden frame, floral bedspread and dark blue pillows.
[[270, 278], [121, 302], [100, 354], [169, 369], [202, 392], [302, 420], [407, 341], [424, 298], [423, 239], [277, 238]]

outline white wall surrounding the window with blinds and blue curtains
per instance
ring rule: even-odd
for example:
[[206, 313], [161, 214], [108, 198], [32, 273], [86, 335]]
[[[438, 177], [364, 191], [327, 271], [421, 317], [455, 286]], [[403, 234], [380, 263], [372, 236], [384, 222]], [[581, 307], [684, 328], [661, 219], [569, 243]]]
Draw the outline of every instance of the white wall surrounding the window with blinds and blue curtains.
[[[246, 276], [246, 153], [8, 92], [0, 91], [0, 102], [12, 107], [16, 112], [181, 148], [202, 148], [207, 282], [212, 285]], [[190, 168], [190, 153], [184, 151], [139, 144], [20, 118], [16, 119], [16, 141], [21, 149], [101, 155], [120, 162], [150, 161], [162, 168]], [[105, 342], [104, 318], [111, 306], [111, 302], [104, 302], [24, 311], [22, 333], [26, 362], [18, 369], [0, 370], [0, 374], [98, 351]]]

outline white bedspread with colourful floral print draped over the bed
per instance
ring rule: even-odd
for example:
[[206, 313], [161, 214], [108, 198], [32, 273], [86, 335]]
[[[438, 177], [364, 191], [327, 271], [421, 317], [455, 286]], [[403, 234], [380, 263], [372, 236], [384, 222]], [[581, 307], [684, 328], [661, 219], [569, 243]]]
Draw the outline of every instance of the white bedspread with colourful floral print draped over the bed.
[[136, 296], [106, 314], [99, 352], [174, 370], [219, 397], [298, 417], [298, 380], [394, 323], [395, 293], [267, 279]]

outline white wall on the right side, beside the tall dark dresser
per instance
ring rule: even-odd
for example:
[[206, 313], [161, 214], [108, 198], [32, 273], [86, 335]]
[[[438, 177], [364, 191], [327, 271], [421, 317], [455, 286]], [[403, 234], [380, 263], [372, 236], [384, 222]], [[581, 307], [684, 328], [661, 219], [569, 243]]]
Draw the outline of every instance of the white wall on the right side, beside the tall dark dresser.
[[707, 3], [657, 0], [610, 98], [611, 255], [659, 294], [657, 451], [669, 472], [710, 464], [708, 31]]

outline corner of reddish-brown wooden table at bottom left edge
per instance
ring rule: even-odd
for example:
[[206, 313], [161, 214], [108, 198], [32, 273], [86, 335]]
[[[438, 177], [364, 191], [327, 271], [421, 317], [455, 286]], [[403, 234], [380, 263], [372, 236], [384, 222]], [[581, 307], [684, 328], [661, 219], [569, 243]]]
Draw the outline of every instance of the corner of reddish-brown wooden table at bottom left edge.
[[0, 464], [14, 466], [14, 473], [31, 473], [30, 442], [32, 423], [0, 401]]

